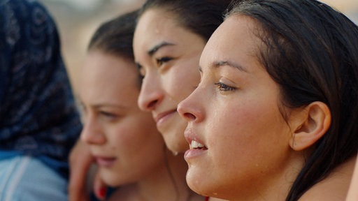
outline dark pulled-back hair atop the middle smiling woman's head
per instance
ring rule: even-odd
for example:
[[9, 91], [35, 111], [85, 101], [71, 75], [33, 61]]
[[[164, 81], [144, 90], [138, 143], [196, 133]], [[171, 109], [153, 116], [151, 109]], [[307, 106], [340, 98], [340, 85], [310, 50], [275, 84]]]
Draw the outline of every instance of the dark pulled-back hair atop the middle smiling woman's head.
[[230, 3], [231, 0], [148, 0], [139, 11], [139, 16], [153, 8], [173, 13], [182, 27], [207, 41], [222, 23]]

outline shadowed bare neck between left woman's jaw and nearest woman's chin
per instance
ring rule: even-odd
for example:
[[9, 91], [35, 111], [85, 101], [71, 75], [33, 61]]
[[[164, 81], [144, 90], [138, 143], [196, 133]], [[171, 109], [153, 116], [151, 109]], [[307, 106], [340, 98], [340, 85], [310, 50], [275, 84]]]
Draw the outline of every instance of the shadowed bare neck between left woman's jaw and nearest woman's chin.
[[187, 163], [183, 155], [174, 156], [170, 151], [166, 151], [165, 154], [163, 165], [158, 166], [157, 171], [134, 184], [121, 186], [110, 200], [203, 201], [203, 196], [197, 195], [187, 186]]

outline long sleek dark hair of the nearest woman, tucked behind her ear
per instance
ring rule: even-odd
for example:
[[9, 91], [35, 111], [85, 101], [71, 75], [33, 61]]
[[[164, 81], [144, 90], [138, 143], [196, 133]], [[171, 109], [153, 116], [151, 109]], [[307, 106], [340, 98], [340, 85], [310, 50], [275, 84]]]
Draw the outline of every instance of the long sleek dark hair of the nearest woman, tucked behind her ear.
[[257, 57], [280, 85], [283, 105], [321, 101], [331, 111], [329, 130], [315, 144], [286, 198], [298, 200], [357, 154], [358, 27], [314, 0], [248, 0], [237, 3], [231, 15], [249, 16], [259, 24], [255, 34], [264, 48], [259, 47]]

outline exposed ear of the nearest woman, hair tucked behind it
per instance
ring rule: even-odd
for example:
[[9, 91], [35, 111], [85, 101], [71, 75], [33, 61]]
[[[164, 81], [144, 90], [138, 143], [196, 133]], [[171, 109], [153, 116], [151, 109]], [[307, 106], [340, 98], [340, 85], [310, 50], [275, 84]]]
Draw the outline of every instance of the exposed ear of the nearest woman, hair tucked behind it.
[[310, 103], [295, 114], [294, 118], [294, 124], [290, 125], [292, 137], [289, 145], [295, 151], [301, 151], [315, 144], [331, 126], [331, 111], [320, 101]]

